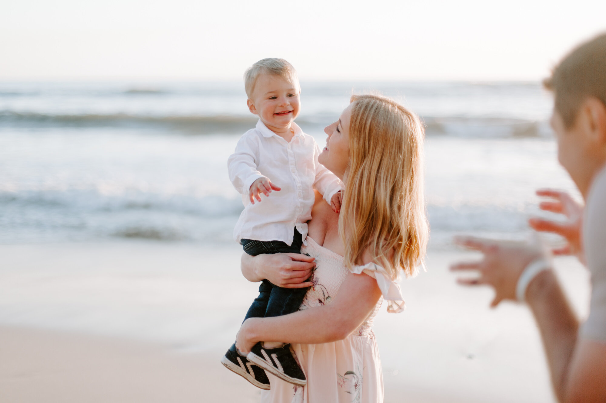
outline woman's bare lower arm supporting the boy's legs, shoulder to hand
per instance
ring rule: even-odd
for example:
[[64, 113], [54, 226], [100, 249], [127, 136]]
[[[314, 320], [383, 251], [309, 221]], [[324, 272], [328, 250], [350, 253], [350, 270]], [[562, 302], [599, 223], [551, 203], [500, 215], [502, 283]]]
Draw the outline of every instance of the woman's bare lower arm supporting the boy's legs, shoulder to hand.
[[273, 318], [247, 319], [238, 332], [238, 349], [247, 353], [259, 341], [318, 344], [344, 339], [358, 329], [380, 297], [374, 278], [348, 274], [328, 305]]

